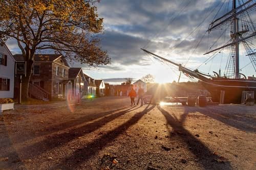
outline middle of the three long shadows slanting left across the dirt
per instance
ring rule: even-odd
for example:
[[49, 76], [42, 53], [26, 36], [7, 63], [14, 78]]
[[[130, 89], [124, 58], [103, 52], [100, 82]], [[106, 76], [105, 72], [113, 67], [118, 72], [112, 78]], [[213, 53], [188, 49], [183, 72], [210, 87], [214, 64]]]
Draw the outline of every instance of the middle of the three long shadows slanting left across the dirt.
[[60, 134], [54, 134], [51, 136], [48, 136], [46, 139], [41, 140], [37, 143], [34, 143], [32, 145], [26, 146], [23, 149], [21, 149], [19, 152], [26, 155], [27, 159], [31, 159], [36, 155], [40, 155], [42, 153], [48, 152], [56, 147], [61, 147], [61, 145], [64, 145], [68, 143], [69, 141], [72, 141], [73, 139], [76, 139], [80, 136], [83, 136], [87, 133], [91, 133], [98, 128], [102, 127], [108, 122], [111, 122], [112, 120], [116, 119], [117, 117], [138, 109], [139, 107], [131, 107], [130, 109], [126, 109], [108, 116], [105, 116], [95, 122], [86, 124], [81, 127], [73, 128], [69, 131], [65, 131]]

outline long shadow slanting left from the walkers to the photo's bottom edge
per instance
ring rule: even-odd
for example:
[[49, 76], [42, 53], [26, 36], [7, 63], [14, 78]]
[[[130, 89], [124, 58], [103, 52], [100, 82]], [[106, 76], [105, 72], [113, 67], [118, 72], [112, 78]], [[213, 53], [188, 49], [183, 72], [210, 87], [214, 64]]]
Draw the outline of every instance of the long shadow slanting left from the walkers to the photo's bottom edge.
[[114, 130], [102, 135], [100, 138], [89, 142], [86, 146], [82, 149], [75, 151], [71, 156], [66, 157], [63, 159], [59, 164], [52, 169], [75, 169], [77, 168], [80, 163], [88, 161], [92, 156], [96, 155], [99, 150], [106, 147], [108, 143], [113, 142], [120, 134], [125, 132], [129, 129], [132, 125], [136, 124], [141, 117], [146, 114], [148, 111], [155, 108], [155, 105], [151, 106], [147, 105], [146, 108], [134, 114], [131, 119], [127, 120], [127, 122], [123, 123], [119, 127], [115, 128]]

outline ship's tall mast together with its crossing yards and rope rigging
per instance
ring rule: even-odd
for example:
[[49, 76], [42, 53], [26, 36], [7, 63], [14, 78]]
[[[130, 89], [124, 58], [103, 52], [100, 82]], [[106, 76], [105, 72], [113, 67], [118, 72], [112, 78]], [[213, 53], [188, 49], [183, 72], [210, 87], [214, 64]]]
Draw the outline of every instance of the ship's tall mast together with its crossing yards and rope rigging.
[[[256, 71], [256, 54], [253, 53], [251, 48], [246, 43], [246, 40], [253, 39], [256, 36], [256, 31], [252, 23], [252, 33], [245, 34], [249, 32], [248, 25], [245, 25], [245, 15], [248, 15], [248, 11], [253, 11], [256, 8], [256, 3], [254, 0], [248, 0], [247, 2], [240, 4], [238, 6], [237, 0], [232, 0], [232, 10], [223, 16], [212, 21], [208, 28], [208, 33], [214, 29], [222, 27], [225, 23], [231, 22], [230, 30], [230, 43], [226, 43], [221, 47], [215, 48], [215, 50], [208, 51], [206, 54], [221, 50], [224, 47], [231, 46], [230, 58], [228, 61], [228, 67], [226, 74], [228, 76], [233, 76], [236, 79], [240, 77], [239, 69], [239, 44], [242, 42], [246, 48], [246, 51], [249, 55], [249, 59]], [[241, 18], [238, 18], [241, 17]], [[248, 16], [249, 17], [249, 16]], [[239, 20], [241, 19], [242, 30], [239, 31]], [[250, 19], [250, 17], [249, 17]], [[251, 19], [250, 19], [251, 20]], [[247, 21], [248, 22], [248, 21]], [[249, 23], [250, 24], [250, 23]], [[242, 36], [245, 34], [246, 36]]]

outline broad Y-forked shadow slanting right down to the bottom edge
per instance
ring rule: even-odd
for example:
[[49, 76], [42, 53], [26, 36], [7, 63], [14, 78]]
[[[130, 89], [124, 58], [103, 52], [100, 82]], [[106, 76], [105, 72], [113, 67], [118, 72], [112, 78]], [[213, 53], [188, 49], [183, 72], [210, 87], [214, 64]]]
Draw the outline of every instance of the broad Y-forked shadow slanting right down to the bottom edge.
[[181, 140], [181, 142], [190, 149], [190, 152], [197, 157], [198, 162], [205, 169], [231, 169], [230, 163], [227, 160], [224, 160], [224, 158], [218, 155], [214, 155], [202, 141], [183, 127], [185, 117], [189, 114], [186, 107], [180, 120], [160, 106], [158, 106], [158, 109], [166, 118], [167, 124], [173, 128], [173, 131], [170, 132], [170, 136], [172, 136], [170, 140]]

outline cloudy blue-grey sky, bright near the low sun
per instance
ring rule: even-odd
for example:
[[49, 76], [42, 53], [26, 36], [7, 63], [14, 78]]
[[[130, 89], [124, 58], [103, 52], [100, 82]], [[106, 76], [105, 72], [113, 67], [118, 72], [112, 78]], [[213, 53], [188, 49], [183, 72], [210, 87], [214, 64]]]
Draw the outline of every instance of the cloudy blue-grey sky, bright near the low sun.
[[[209, 23], [230, 10], [227, 0], [101, 0], [97, 6], [99, 17], [103, 18], [104, 32], [101, 38], [102, 50], [108, 51], [111, 64], [82, 67], [83, 71], [95, 79], [105, 79], [119, 83], [123, 78], [140, 79], [147, 74], [155, 77], [156, 82], [178, 81], [176, 66], [166, 65], [145, 54], [145, 48], [169, 60], [196, 69], [212, 54], [207, 51], [223, 45], [230, 39], [228, 27], [208, 34]], [[229, 4], [228, 4], [229, 3]], [[255, 23], [255, 11], [252, 13]], [[254, 24], [255, 26], [255, 24]], [[220, 36], [222, 35], [222, 36]], [[221, 37], [221, 38], [219, 38]], [[224, 39], [224, 40], [223, 40]], [[218, 40], [218, 41], [217, 41]], [[216, 42], [217, 41], [217, 42]], [[250, 41], [253, 45], [255, 41]], [[12, 40], [7, 42], [12, 53], [18, 47]], [[254, 45], [255, 46], [255, 45]], [[255, 48], [255, 47], [254, 47]], [[253, 50], [255, 50], [252, 48]], [[245, 51], [241, 47], [244, 55]], [[216, 57], [198, 69], [206, 74], [225, 70], [229, 49], [218, 52]], [[249, 62], [248, 56], [241, 57], [241, 67]], [[242, 69], [242, 73], [255, 74], [252, 65]], [[189, 81], [181, 74], [180, 81]]]

